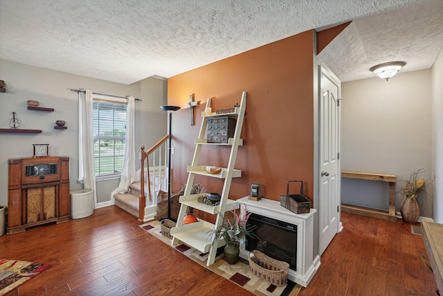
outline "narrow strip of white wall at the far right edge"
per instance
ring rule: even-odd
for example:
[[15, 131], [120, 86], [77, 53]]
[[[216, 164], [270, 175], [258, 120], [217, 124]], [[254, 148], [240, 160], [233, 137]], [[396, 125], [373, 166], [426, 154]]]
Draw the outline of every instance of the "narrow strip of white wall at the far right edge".
[[443, 223], [443, 49], [432, 69], [433, 157], [435, 191], [433, 219]]

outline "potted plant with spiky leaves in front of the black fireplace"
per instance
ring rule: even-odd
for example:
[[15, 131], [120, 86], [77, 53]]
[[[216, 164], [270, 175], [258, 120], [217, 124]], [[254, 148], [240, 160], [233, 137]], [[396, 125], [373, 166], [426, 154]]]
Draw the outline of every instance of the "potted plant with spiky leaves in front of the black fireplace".
[[241, 214], [235, 211], [228, 211], [223, 217], [223, 223], [220, 227], [212, 230], [209, 233], [213, 245], [220, 238], [224, 238], [226, 246], [224, 247], [224, 254], [229, 264], [237, 263], [239, 259], [239, 244], [246, 244], [246, 237], [254, 237], [254, 226], [248, 225], [248, 218], [251, 213], [246, 211], [246, 206]]

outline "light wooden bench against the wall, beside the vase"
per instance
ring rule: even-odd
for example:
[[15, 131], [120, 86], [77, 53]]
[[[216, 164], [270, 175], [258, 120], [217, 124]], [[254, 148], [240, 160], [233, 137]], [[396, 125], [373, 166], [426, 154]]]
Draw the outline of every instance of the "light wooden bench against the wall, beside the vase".
[[379, 218], [397, 222], [397, 215], [395, 214], [395, 182], [397, 182], [396, 175], [379, 174], [379, 173], [363, 173], [354, 171], [341, 171], [341, 177], [359, 180], [381, 181], [389, 184], [389, 210], [383, 211], [380, 209], [370, 209], [368, 207], [359, 207], [352, 204], [341, 204], [341, 211], [345, 213], [357, 214], [372, 218]]

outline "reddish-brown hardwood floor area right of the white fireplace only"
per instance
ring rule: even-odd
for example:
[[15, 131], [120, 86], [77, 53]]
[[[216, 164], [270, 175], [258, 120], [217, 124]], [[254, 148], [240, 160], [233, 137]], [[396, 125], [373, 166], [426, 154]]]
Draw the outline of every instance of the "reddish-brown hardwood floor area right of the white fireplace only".
[[[343, 231], [321, 256], [305, 295], [437, 295], [421, 235], [411, 225], [342, 213]], [[417, 226], [420, 226], [417, 224]]]

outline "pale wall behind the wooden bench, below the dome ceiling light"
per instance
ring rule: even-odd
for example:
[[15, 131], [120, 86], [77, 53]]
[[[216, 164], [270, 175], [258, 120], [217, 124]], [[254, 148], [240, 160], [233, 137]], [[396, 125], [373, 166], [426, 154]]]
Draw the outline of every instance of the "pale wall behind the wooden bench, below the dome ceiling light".
[[[344, 82], [342, 98], [342, 170], [397, 175], [396, 191], [419, 168], [432, 179], [430, 69]], [[388, 184], [343, 178], [342, 202], [388, 209]], [[419, 204], [421, 216], [433, 216], [432, 190]]]

